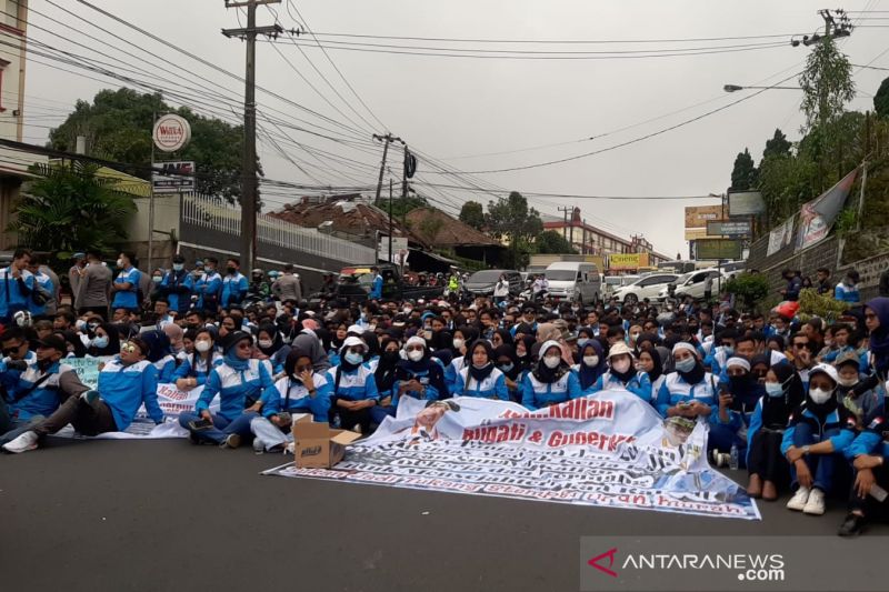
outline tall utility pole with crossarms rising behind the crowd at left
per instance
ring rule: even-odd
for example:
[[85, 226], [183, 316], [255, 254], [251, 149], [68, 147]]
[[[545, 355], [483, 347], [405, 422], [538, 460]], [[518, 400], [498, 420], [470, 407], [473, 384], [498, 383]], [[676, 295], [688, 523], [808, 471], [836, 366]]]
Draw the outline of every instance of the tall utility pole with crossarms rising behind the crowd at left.
[[276, 39], [283, 32], [280, 24], [257, 27], [257, 7], [279, 4], [281, 0], [226, 0], [226, 8], [246, 8], [247, 27], [223, 29], [222, 34], [247, 41], [243, 93], [243, 162], [241, 164], [241, 265], [253, 269], [257, 245], [257, 36]]

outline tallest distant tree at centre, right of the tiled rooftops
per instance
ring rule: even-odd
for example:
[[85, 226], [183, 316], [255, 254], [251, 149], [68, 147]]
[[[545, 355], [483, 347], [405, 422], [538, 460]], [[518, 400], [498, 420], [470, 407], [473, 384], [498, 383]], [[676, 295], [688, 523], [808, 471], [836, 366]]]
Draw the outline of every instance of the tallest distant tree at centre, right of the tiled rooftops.
[[533, 237], [543, 231], [540, 214], [533, 208], [528, 208], [528, 200], [518, 191], [512, 191], [506, 199], [489, 201], [485, 222], [495, 238], [509, 243], [505, 262], [513, 269], [525, 267]]

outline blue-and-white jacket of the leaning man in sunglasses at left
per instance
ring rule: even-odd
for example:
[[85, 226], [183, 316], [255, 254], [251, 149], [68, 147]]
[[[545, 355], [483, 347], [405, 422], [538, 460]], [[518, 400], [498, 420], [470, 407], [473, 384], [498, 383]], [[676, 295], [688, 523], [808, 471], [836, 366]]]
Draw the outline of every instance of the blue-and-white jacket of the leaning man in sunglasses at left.
[[148, 360], [123, 365], [119, 359], [106, 362], [99, 371], [97, 387], [102, 401], [111, 408], [119, 431], [130, 427], [136, 412], [146, 405], [148, 417], [156, 423], [163, 421], [158, 405], [158, 370]]

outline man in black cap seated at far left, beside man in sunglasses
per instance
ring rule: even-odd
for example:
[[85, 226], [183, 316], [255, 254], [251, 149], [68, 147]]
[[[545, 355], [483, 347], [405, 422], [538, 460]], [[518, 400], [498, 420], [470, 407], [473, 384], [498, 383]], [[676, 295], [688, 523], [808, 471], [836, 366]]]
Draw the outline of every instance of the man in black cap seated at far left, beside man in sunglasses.
[[[89, 390], [70, 365], [59, 363], [68, 347], [59, 335], [50, 334], [37, 343], [37, 361], [19, 374], [16, 395], [0, 401], [9, 405], [9, 424], [0, 425], [0, 444], [6, 444], [36, 428], [59, 408], [59, 400], [78, 397]], [[0, 422], [2, 423], [2, 422]]]

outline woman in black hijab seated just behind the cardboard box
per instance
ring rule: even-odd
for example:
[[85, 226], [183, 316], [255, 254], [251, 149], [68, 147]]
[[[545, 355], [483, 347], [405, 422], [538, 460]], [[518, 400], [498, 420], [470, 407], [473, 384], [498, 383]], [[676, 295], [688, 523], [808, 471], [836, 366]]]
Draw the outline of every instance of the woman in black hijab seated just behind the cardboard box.
[[312, 421], [327, 423], [333, 385], [328, 377], [312, 370], [308, 353], [290, 350], [284, 360], [286, 375], [262, 393], [262, 417], [253, 418], [253, 450], [282, 448], [293, 441], [290, 414], [311, 413]]

